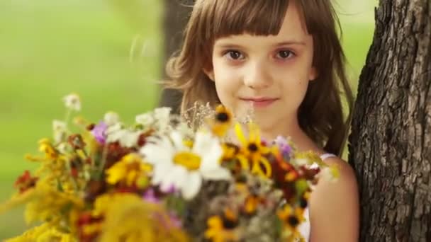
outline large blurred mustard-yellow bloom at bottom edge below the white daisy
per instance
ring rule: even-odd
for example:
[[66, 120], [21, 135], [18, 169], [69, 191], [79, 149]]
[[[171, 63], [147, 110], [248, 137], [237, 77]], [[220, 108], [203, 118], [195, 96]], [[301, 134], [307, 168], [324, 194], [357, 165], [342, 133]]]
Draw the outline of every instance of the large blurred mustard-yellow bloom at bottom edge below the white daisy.
[[101, 242], [189, 241], [172, 224], [162, 207], [145, 202], [138, 195], [118, 193], [102, 195], [97, 200], [95, 209], [99, 209], [99, 212], [103, 210], [105, 218]]

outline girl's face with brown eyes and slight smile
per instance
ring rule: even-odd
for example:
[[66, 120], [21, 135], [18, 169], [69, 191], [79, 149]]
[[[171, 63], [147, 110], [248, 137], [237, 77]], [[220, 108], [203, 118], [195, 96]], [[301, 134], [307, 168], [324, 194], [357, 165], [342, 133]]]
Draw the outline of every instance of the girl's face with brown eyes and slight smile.
[[308, 81], [316, 77], [312, 62], [313, 38], [291, 1], [278, 35], [242, 34], [215, 40], [213, 69], [205, 72], [215, 81], [223, 105], [235, 115], [252, 107], [256, 122], [268, 129], [297, 120]]

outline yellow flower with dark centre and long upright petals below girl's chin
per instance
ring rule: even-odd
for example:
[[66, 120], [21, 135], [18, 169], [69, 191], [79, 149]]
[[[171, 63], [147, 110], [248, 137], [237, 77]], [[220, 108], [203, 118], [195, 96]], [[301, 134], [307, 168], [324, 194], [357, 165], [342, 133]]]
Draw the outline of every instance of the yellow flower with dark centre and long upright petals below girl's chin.
[[246, 160], [251, 161], [252, 173], [269, 178], [272, 175], [272, 168], [265, 155], [269, 154], [271, 150], [262, 145], [257, 126], [251, 122], [248, 126], [250, 135], [246, 139], [240, 124], [235, 125], [235, 133], [241, 143], [240, 155], [237, 156], [237, 159], [241, 163], [245, 163]]

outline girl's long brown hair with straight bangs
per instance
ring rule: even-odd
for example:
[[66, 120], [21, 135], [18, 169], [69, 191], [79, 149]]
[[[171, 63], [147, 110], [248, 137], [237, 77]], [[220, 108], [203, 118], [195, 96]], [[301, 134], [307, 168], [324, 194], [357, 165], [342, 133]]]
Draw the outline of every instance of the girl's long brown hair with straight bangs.
[[[349, 132], [353, 95], [345, 74], [345, 55], [337, 27], [340, 23], [330, 0], [294, 0], [302, 11], [308, 33], [313, 36], [313, 66], [318, 78], [311, 81], [298, 110], [301, 128], [325, 151], [341, 154]], [[277, 35], [286, 15], [289, 0], [196, 0], [184, 45], [169, 59], [169, 88], [183, 92], [181, 111], [196, 101], [220, 103], [215, 84], [204, 74], [211, 69], [215, 40], [229, 35]], [[344, 119], [343, 93], [347, 100]]]

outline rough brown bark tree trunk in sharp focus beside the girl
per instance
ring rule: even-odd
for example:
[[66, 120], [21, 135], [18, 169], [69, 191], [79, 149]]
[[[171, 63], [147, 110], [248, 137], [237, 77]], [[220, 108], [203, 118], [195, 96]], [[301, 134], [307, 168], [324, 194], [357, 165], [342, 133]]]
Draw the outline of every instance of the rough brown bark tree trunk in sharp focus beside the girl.
[[361, 241], [431, 241], [431, 1], [381, 0], [349, 161]]

